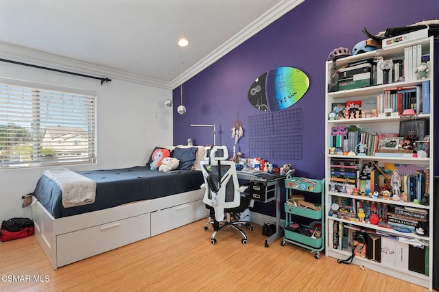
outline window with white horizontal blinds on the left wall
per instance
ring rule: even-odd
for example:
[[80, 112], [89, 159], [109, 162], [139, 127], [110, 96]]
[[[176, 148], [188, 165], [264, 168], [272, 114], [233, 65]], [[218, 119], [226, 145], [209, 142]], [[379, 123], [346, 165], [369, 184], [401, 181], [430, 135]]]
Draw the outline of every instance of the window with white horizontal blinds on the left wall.
[[0, 78], [0, 169], [94, 163], [91, 91]]

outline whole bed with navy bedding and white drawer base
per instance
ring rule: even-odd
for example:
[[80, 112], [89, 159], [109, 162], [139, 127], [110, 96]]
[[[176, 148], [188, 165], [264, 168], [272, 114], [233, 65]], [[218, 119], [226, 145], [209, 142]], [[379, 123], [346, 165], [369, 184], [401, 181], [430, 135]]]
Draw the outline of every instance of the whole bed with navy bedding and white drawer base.
[[204, 147], [191, 148], [199, 151], [191, 149], [189, 169], [160, 172], [147, 164], [76, 172], [95, 181], [96, 192], [93, 204], [73, 208], [64, 208], [60, 187], [42, 175], [32, 193], [32, 213], [36, 239], [51, 266], [58, 269], [206, 217], [198, 170]]

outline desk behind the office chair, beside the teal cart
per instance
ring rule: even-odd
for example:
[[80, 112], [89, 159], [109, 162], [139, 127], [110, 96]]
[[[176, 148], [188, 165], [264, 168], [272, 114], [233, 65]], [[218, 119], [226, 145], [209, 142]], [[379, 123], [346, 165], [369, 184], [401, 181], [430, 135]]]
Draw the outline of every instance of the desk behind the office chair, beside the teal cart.
[[[284, 176], [279, 176], [275, 178], [259, 178], [257, 176], [257, 173], [249, 173], [247, 171], [236, 171], [237, 176], [241, 180], [248, 180], [250, 182], [261, 182], [265, 185], [266, 188], [269, 186], [274, 185], [274, 198], [265, 201], [271, 202], [273, 200], [276, 201], [276, 233], [272, 234], [268, 237], [268, 239], [265, 239], [265, 247], [269, 247], [270, 243], [278, 239], [279, 237], [283, 236], [283, 228], [281, 228], [281, 182], [283, 182]], [[262, 202], [258, 199], [256, 199], [259, 202]]]

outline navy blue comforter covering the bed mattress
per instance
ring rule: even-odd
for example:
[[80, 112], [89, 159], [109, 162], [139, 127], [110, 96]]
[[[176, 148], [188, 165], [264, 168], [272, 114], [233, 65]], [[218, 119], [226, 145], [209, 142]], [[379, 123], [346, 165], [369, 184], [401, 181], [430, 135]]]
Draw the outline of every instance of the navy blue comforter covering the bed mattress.
[[156, 199], [200, 188], [204, 182], [201, 171], [152, 171], [150, 167], [130, 167], [97, 171], [77, 171], [96, 182], [93, 204], [64, 208], [59, 186], [43, 175], [34, 195], [55, 218], [112, 208], [121, 204]]

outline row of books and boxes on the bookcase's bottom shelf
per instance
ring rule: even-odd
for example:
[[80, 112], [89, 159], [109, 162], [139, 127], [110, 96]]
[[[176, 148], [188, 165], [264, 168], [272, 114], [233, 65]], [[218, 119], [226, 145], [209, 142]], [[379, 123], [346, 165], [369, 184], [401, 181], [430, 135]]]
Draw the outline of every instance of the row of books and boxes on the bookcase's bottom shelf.
[[394, 236], [334, 220], [329, 224], [329, 245], [335, 250], [353, 251], [355, 256], [428, 276], [429, 248], [399, 241]]

